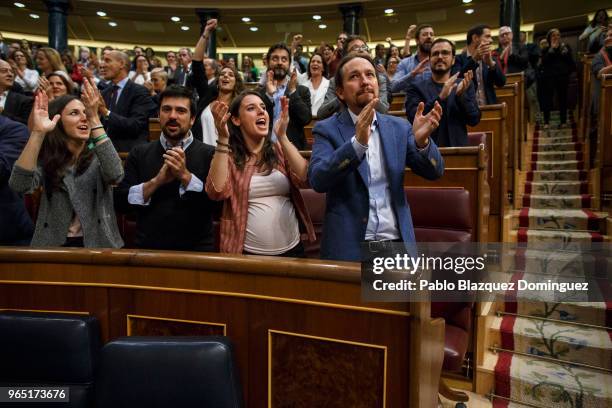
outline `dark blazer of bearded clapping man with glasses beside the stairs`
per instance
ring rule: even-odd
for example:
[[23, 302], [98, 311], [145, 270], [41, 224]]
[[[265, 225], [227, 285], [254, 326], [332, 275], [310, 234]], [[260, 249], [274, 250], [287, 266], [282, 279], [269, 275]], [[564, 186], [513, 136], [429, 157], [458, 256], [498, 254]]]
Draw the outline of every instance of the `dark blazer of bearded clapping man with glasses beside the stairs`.
[[[457, 79], [457, 83], [461, 79]], [[438, 147], [467, 146], [467, 126], [476, 126], [480, 122], [480, 108], [476, 100], [475, 88], [470, 86], [463, 95], [457, 97], [455, 91], [442, 101], [440, 99], [441, 86], [428, 78], [410, 84], [406, 89], [406, 116], [412, 123], [420, 102], [425, 103], [423, 114], [429, 113], [436, 101], [442, 106], [442, 119], [440, 126], [431, 134], [431, 138]]]

